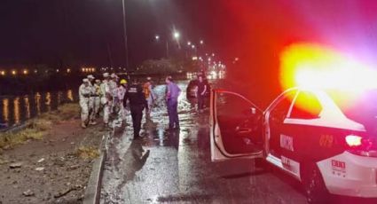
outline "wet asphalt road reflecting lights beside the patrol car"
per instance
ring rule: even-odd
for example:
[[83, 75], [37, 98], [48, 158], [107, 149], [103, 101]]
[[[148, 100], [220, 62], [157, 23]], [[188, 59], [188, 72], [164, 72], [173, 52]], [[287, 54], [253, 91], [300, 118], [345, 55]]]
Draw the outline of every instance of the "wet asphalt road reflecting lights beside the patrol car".
[[[103, 177], [101, 203], [306, 203], [299, 185], [252, 160], [212, 163], [208, 110], [198, 114], [194, 101], [179, 100], [181, 129], [167, 132], [165, 87], [150, 120], [143, 119], [143, 140], [132, 127], [115, 130]], [[130, 122], [130, 118], [128, 119]]]

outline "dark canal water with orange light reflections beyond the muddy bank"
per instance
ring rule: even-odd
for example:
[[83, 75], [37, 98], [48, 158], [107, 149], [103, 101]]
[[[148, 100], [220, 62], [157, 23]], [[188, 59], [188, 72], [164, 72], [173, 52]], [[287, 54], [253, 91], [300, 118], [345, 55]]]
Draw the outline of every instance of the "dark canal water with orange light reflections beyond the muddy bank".
[[78, 99], [77, 90], [36, 92], [22, 96], [0, 97], [0, 129], [27, 121]]

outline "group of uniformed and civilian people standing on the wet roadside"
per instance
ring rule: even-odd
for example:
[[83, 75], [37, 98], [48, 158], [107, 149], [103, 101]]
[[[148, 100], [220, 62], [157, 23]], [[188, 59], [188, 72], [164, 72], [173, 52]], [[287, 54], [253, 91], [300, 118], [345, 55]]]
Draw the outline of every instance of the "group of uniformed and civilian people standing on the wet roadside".
[[[181, 93], [172, 77], [166, 78], [166, 102], [169, 114], [169, 129], [179, 129], [177, 114], [177, 100]], [[143, 111], [145, 117], [151, 114], [156, 96], [153, 93], [153, 82], [151, 77], [146, 78], [146, 82], [141, 85], [137, 79], [130, 84], [127, 80], [115, 75], [103, 74], [103, 80], [95, 79], [93, 75], [88, 75], [82, 80], [79, 88], [79, 98], [81, 107], [82, 128], [97, 124], [96, 118], [102, 110], [104, 127], [109, 127], [110, 115], [114, 114], [113, 122], [125, 122], [127, 118], [127, 106], [130, 106], [130, 115], [134, 131], [134, 138], [139, 138]]]

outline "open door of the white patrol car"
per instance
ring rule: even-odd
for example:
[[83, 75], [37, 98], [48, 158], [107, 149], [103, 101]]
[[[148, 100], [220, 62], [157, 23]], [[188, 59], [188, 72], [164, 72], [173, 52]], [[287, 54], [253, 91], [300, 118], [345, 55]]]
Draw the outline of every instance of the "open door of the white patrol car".
[[209, 117], [212, 161], [263, 157], [263, 111], [250, 100], [214, 89]]

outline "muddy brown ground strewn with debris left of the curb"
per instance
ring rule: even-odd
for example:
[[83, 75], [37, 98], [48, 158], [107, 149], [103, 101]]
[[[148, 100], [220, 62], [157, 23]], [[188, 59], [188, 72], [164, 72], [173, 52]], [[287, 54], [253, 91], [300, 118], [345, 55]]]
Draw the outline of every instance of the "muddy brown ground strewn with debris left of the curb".
[[82, 203], [92, 162], [106, 134], [80, 127], [78, 114], [53, 122], [42, 139], [0, 148], [1, 203]]

